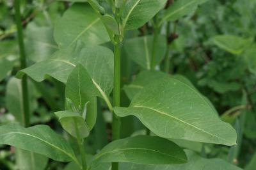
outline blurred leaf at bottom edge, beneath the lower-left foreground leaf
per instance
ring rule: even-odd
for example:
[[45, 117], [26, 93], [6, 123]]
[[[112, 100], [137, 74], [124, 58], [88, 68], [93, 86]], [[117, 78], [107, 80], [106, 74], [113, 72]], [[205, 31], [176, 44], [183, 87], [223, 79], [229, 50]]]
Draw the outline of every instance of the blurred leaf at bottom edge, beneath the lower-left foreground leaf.
[[[38, 153], [15, 148], [16, 164], [20, 170], [44, 170], [48, 158]], [[38, 166], [40, 165], [40, 166]]]

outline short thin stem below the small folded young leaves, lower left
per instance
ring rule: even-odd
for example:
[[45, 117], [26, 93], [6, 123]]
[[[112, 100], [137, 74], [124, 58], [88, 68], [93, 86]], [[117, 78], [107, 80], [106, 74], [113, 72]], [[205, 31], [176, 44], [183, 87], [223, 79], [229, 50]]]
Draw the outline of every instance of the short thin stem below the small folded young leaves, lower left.
[[79, 130], [77, 128], [77, 122], [76, 122], [75, 119], [74, 119], [74, 123], [75, 123], [75, 128], [76, 128], [77, 145], [78, 145], [80, 155], [81, 155], [82, 169], [86, 170], [87, 165], [86, 165], [86, 158], [85, 158], [85, 151], [84, 151], [84, 141], [83, 141], [83, 139], [81, 139], [81, 136], [79, 134]]

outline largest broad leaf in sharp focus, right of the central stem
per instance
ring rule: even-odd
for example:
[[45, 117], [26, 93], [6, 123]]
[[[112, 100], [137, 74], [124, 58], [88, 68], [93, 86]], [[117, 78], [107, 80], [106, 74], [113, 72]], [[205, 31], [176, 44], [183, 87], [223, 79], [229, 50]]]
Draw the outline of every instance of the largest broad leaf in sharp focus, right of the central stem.
[[173, 78], [152, 81], [129, 107], [115, 107], [124, 117], [134, 115], [160, 137], [204, 143], [236, 144], [236, 131], [218, 118], [212, 105], [195, 88]]

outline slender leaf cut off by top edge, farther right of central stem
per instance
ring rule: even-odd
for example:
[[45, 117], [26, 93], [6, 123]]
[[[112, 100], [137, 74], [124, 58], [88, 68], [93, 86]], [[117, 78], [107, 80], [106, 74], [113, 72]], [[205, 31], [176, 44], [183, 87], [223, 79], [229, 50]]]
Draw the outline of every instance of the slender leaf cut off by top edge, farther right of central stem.
[[164, 21], [174, 21], [178, 20], [189, 13], [196, 10], [199, 4], [205, 3], [207, 0], [179, 0], [175, 1], [164, 13], [164, 17], [160, 24]]

